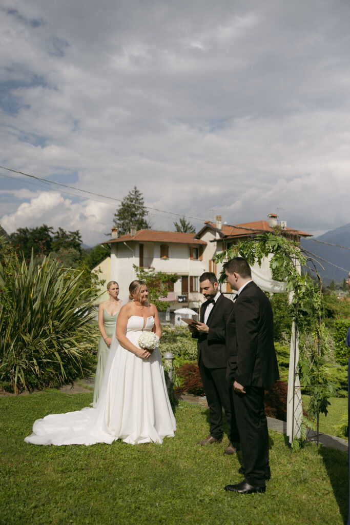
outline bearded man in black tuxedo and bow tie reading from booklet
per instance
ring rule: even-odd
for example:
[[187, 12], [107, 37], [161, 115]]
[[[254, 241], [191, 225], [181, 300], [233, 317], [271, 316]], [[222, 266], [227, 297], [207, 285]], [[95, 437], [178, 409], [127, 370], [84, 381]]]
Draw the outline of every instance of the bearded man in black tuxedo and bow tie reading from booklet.
[[226, 321], [233, 303], [218, 290], [218, 281], [213, 272], [205, 272], [199, 278], [200, 292], [206, 301], [200, 308], [200, 322], [189, 325], [192, 337], [198, 340], [198, 367], [209, 406], [210, 433], [199, 445], [221, 443], [222, 407], [228, 425], [229, 443], [224, 454], [236, 454], [239, 434], [232, 404], [232, 393], [226, 380]]

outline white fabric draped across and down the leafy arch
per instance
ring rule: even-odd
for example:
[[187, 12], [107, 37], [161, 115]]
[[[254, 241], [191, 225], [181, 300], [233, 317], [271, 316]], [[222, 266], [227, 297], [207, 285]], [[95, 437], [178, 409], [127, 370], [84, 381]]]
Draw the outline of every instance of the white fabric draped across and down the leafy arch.
[[[251, 267], [251, 276], [256, 285], [263, 291], [270, 293], [283, 293], [287, 289], [286, 282], [269, 279], [261, 271]], [[295, 360], [294, 360], [295, 355]], [[294, 368], [295, 363], [295, 368]], [[287, 398], [287, 436], [292, 443], [294, 437], [301, 436], [301, 423], [303, 417], [303, 408], [301, 400], [300, 379], [299, 379], [299, 335], [296, 330], [295, 322], [292, 324], [292, 335], [289, 358], [289, 376], [288, 376], [288, 398]], [[295, 382], [294, 382], [295, 376]], [[294, 399], [294, 404], [293, 404]], [[293, 413], [294, 405], [294, 413]]]

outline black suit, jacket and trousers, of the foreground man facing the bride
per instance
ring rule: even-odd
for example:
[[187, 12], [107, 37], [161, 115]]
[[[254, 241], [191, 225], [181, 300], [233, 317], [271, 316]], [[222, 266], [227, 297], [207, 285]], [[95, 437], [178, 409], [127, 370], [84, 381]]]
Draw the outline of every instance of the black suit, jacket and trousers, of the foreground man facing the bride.
[[[252, 281], [242, 289], [228, 317], [226, 348], [227, 378], [233, 391], [246, 480], [250, 485], [263, 486], [270, 476], [263, 393], [279, 379], [279, 373], [271, 304]], [[234, 381], [245, 387], [246, 394], [234, 391]]]

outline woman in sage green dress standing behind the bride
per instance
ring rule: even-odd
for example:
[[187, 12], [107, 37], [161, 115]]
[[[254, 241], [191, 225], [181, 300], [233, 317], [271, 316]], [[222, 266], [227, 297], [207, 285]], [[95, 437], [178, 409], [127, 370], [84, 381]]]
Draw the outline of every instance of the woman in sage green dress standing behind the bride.
[[107, 364], [108, 359], [108, 351], [112, 342], [116, 319], [118, 318], [118, 314], [122, 306], [121, 299], [118, 299], [118, 282], [110, 281], [107, 284], [107, 291], [109, 293], [109, 299], [99, 304], [99, 329], [101, 332], [101, 337], [99, 341], [99, 353], [92, 406], [96, 405], [100, 395], [103, 374], [105, 372], [105, 365]]

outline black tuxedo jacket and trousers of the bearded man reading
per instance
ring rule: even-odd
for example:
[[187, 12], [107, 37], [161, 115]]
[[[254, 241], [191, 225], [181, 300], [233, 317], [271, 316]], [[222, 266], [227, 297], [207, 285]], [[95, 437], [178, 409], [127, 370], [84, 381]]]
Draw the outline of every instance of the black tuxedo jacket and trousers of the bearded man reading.
[[[200, 322], [204, 322], [208, 304], [209, 301], [205, 301], [200, 308]], [[232, 394], [226, 381], [225, 332], [232, 306], [232, 301], [220, 295], [206, 322], [209, 332], [195, 332], [193, 337], [198, 339], [198, 366], [209, 406], [210, 435], [215, 439], [222, 437], [222, 407], [224, 407], [229, 428], [229, 440], [239, 442], [232, 407]]]

